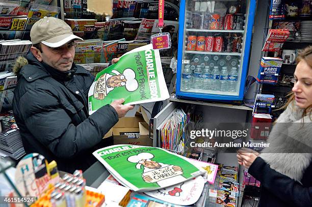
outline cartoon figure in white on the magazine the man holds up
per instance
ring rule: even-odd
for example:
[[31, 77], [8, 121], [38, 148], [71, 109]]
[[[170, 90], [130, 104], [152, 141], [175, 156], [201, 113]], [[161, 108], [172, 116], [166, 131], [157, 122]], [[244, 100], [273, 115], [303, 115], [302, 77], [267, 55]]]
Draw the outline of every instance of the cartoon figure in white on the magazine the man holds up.
[[125, 69], [122, 73], [112, 70], [111, 74], [101, 75], [95, 83], [93, 96], [96, 99], [103, 100], [115, 87], [122, 86], [128, 92], [138, 89], [139, 84], [136, 80], [136, 73], [131, 68]]

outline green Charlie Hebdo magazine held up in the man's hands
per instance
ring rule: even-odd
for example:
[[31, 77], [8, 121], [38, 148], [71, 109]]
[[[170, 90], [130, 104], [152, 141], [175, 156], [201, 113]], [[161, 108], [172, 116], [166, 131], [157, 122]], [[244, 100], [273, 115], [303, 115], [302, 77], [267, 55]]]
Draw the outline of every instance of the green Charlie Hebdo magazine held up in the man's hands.
[[125, 53], [96, 75], [88, 97], [89, 114], [121, 98], [125, 105], [168, 99], [159, 50], [149, 44]]

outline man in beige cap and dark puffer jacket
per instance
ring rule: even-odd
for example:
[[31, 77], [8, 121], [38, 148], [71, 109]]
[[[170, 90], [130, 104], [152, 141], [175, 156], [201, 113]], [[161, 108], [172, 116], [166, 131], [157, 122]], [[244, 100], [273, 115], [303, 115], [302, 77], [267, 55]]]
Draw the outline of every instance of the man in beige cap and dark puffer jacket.
[[30, 36], [28, 64], [18, 67], [25, 60], [17, 60], [13, 99], [25, 152], [55, 160], [63, 171], [85, 170], [95, 162], [92, 152], [108, 144], [102, 137], [133, 106], [116, 100], [89, 116], [87, 96], [94, 77], [73, 63], [73, 41], [82, 39], [54, 17], [37, 21]]

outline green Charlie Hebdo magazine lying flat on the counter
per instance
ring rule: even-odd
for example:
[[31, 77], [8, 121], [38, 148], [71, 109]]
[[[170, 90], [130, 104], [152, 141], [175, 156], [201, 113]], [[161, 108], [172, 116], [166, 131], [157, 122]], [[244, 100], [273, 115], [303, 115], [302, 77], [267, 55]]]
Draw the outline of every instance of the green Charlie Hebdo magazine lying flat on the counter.
[[119, 183], [134, 191], [163, 189], [206, 172], [187, 158], [158, 147], [118, 144], [93, 155]]

